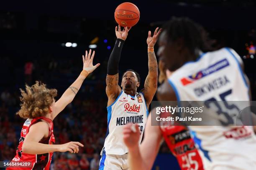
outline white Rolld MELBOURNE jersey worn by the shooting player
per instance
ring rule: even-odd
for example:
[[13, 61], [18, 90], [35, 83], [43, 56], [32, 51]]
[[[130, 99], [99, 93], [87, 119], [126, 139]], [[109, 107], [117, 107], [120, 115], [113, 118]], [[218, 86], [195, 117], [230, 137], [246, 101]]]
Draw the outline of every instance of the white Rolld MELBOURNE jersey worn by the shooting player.
[[143, 93], [135, 96], [127, 95], [123, 90], [108, 109], [108, 130], [104, 148], [107, 154], [124, 155], [128, 148], [123, 142], [123, 125], [137, 123], [141, 131], [139, 143], [141, 143], [143, 131], [148, 117], [148, 108]]

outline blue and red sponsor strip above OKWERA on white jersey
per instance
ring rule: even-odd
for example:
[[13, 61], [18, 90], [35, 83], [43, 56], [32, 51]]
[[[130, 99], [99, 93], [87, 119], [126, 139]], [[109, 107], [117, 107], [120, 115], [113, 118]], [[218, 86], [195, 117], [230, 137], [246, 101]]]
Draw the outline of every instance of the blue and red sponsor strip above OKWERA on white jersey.
[[210, 75], [218, 70], [223, 69], [224, 67], [227, 67], [229, 65], [229, 62], [227, 59], [220, 60], [213, 65], [210, 65], [209, 67], [200, 70], [196, 72], [195, 74], [189, 75], [188, 77], [183, 77], [180, 81], [182, 82], [182, 85], [188, 85], [196, 80], [201, 79], [202, 77], [205, 77], [207, 75]]

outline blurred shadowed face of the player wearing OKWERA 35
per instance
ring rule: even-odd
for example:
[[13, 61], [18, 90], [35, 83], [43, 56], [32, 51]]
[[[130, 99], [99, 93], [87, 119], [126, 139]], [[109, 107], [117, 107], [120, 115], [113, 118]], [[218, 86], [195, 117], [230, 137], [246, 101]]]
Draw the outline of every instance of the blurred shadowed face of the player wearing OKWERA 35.
[[181, 53], [179, 52], [179, 47], [177, 43], [169, 42], [168, 35], [166, 31], [162, 32], [158, 40], [159, 49], [157, 55], [161, 60], [163, 60], [166, 68], [170, 71], [177, 70], [179, 68], [179, 61], [181, 58]]

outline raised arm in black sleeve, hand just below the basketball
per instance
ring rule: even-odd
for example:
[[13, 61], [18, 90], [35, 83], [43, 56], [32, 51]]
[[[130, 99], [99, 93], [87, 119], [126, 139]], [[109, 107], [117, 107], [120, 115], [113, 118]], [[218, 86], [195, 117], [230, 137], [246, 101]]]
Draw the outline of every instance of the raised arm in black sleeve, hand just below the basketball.
[[121, 88], [118, 85], [118, 65], [121, 57], [123, 44], [127, 38], [129, 30], [130, 29], [125, 27], [122, 31], [120, 25], [118, 25], [118, 27], [115, 27], [115, 35], [117, 37], [117, 40], [108, 59], [108, 69], [106, 77], [106, 93], [108, 96], [108, 106], [115, 101], [116, 97], [118, 97], [121, 92]]

